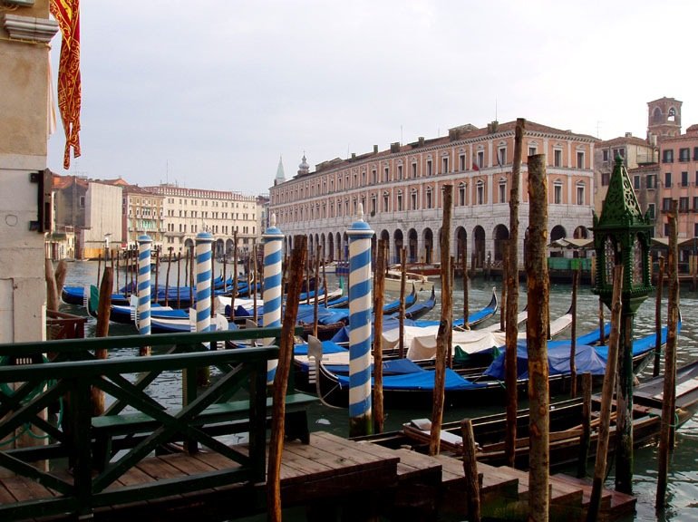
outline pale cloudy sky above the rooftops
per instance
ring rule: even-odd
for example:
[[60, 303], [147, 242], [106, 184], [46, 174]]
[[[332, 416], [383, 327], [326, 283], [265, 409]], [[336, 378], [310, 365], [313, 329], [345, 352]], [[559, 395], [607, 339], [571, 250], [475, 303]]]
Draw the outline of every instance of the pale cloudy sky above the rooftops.
[[[81, 3], [82, 156], [141, 186], [267, 194], [378, 145], [526, 118], [645, 138], [647, 102], [698, 123], [693, 0], [149, 0]], [[60, 35], [53, 38], [53, 90]]]

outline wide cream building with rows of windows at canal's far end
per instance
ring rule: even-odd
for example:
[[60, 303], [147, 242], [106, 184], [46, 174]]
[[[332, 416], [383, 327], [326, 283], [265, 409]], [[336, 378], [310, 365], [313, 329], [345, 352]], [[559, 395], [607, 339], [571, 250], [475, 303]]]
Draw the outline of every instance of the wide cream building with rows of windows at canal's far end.
[[229, 190], [187, 189], [173, 184], [144, 187], [164, 198], [163, 250], [184, 254], [197, 234], [208, 230], [217, 257], [233, 252], [235, 238], [242, 252], [251, 252], [260, 234], [262, 205], [254, 196]]

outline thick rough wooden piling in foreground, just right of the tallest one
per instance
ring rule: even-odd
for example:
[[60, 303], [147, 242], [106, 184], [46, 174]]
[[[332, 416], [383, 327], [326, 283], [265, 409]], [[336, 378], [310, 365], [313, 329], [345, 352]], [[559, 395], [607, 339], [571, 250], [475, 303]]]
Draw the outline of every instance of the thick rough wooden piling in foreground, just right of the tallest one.
[[548, 179], [546, 155], [528, 156], [528, 402], [530, 449], [528, 520], [548, 522], [549, 396], [548, 396]]

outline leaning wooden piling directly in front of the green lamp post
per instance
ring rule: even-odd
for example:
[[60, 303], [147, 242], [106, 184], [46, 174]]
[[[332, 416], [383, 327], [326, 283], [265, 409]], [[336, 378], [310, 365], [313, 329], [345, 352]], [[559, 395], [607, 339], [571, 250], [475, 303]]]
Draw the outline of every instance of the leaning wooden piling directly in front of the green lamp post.
[[623, 265], [616, 265], [613, 272], [613, 297], [611, 301], [611, 334], [608, 338], [606, 356], [606, 375], [601, 391], [601, 411], [596, 442], [596, 466], [592, 482], [591, 498], [587, 511], [587, 522], [594, 522], [601, 507], [601, 492], [606, 478], [606, 459], [610, 438], [611, 407], [616, 390], [616, 372], [618, 367], [618, 343], [620, 342], [620, 313], [622, 309], [621, 292], [623, 290]]

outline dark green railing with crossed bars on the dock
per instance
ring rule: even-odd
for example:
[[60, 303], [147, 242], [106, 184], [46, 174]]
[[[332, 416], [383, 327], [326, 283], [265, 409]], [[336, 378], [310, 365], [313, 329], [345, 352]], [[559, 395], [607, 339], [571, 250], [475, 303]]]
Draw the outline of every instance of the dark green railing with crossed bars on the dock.
[[[0, 366], [0, 441], [12, 440], [17, 430], [32, 427], [47, 437], [47, 444], [29, 448], [0, 446], [0, 467], [30, 478], [53, 496], [15, 504], [0, 504], [0, 519], [16, 520], [61, 513], [85, 515], [95, 507], [160, 498], [234, 482], [258, 482], [265, 478], [267, 421], [267, 360], [278, 357], [278, 347], [208, 350], [204, 343], [221, 343], [252, 338], [278, 337], [280, 328], [247, 329], [212, 333], [178, 333], [150, 336], [107, 337], [60, 340], [45, 343], [0, 344], [6, 362], [34, 363]], [[96, 359], [95, 350], [173, 346], [168, 352], [150, 357]], [[53, 362], [36, 363], [48, 353]], [[197, 390], [196, 373], [215, 366], [221, 372], [204, 391]], [[148, 385], [162, 372], [179, 372], [182, 403], [178, 408], [153, 399]], [[14, 389], [13, 389], [14, 388]], [[119, 415], [125, 408], [138, 411], [157, 423], [157, 428], [131, 449], [122, 451], [106, 467], [95, 456], [92, 423], [92, 394], [103, 391], [111, 399], [105, 416]], [[238, 391], [248, 401], [246, 427], [249, 446], [243, 454], [202, 430], [201, 415], [219, 401]], [[51, 422], [45, 411], [63, 402], [63, 419]], [[199, 473], [183, 478], [160, 480], [137, 487], [114, 487], [117, 480], [154, 449], [172, 440], [182, 440], [196, 451], [204, 446], [230, 459], [229, 469]], [[67, 459], [72, 475], [60, 474]], [[49, 466], [34, 466], [48, 461]], [[65, 465], [63, 464], [63, 468]], [[111, 488], [110, 488], [111, 487]]]

